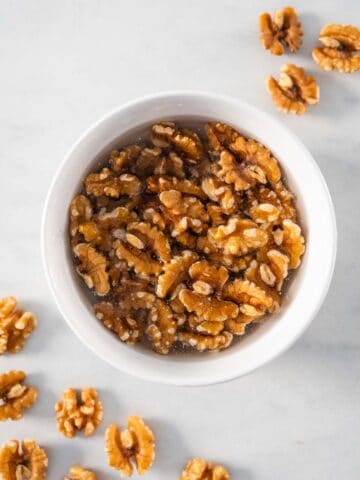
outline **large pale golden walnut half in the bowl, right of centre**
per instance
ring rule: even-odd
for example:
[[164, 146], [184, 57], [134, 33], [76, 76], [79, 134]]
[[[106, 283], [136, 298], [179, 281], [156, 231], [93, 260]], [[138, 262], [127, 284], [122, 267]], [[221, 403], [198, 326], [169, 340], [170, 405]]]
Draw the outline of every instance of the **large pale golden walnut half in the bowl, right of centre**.
[[251, 220], [231, 217], [226, 225], [209, 228], [208, 239], [225, 254], [240, 256], [266, 245], [268, 235]]

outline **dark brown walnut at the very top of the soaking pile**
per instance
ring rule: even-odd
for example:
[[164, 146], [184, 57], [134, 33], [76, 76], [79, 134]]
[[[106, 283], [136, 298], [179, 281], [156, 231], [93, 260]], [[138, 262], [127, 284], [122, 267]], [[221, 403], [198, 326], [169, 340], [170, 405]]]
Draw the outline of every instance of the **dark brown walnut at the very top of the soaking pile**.
[[195, 132], [181, 130], [172, 122], [154, 125], [151, 130], [151, 141], [157, 147], [173, 145], [194, 160], [199, 160], [203, 151], [201, 141]]

